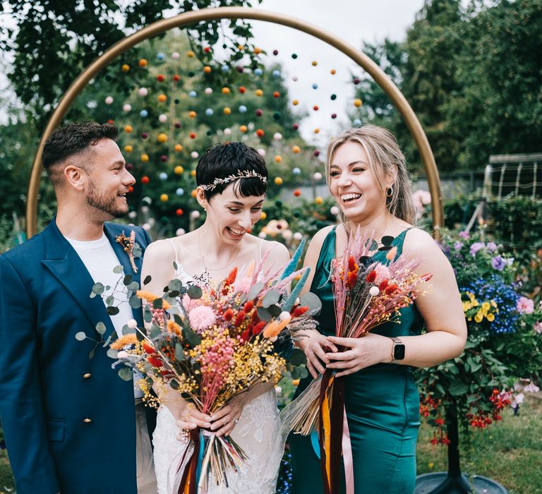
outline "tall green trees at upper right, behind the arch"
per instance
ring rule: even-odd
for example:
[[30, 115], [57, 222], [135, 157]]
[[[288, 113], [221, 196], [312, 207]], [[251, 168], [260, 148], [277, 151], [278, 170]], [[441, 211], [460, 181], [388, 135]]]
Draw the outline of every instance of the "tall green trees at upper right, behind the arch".
[[[426, 0], [404, 42], [364, 51], [402, 90], [442, 171], [481, 169], [490, 154], [536, 152], [542, 140], [542, 4]], [[372, 80], [353, 115], [388, 126], [421, 163], [397, 110]]]

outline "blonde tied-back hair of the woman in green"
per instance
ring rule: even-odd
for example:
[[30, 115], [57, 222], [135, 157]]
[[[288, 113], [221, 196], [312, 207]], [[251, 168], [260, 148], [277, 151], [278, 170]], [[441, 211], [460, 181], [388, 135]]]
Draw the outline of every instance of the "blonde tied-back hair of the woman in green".
[[[381, 191], [385, 191], [386, 176], [394, 176], [395, 183], [392, 186], [392, 195], [387, 197], [387, 209], [392, 215], [403, 219], [410, 224], [416, 223], [416, 206], [412, 200], [412, 188], [409, 174], [406, 171], [406, 159], [399, 149], [397, 139], [386, 128], [375, 125], [351, 128], [334, 138], [327, 145], [325, 157], [325, 179], [327, 186], [330, 185], [330, 166], [337, 149], [352, 141], [358, 143], [365, 150], [369, 160], [369, 166], [375, 174], [376, 181]], [[339, 217], [345, 227], [348, 228], [348, 219], [340, 212]]]

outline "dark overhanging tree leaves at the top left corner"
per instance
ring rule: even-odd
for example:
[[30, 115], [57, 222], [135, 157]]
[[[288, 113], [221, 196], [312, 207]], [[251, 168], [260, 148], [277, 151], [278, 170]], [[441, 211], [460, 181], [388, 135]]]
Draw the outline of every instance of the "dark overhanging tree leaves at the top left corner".
[[[11, 16], [16, 28], [0, 28], [0, 49], [13, 56], [8, 78], [42, 127], [78, 73], [128, 33], [164, 13], [252, 4], [248, 0], [7, 0], [0, 3], [0, 13]], [[231, 63], [239, 59], [237, 46], [250, 45], [251, 25], [235, 20], [229, 26], [231, 31], [220, 20], [192, 26], [188, 33], [197, 53], [222, 40]]]

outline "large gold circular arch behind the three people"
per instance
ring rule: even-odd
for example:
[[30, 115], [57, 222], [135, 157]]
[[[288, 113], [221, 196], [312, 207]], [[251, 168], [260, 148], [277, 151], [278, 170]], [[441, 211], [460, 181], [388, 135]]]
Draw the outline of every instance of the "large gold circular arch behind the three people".
[[147, 28], [134, 32], [133, 35], [115, 43], [107, 50], [107, 52], [93, 61], [92, 64], [90, 64], [90, 66], [80, 73], [78, 78], [73, 81], [47, 122], [47, 126], [45, 127], [40, 140], [40, 145], [38, 146], [34, 157], [34, 162], [32, 163], [32, 172], [30, 174], [30, 183], [28, 185], [28, 202], [26, 205], [26, 231], [28, 238], [35, 235], [37, 230], [37, 195], [42, 174], [43, 144], [52, 131], [59, 126], [61, 120], [71, 107], [73, 100], [75, 100], [77, 95], [85, 88], [85, 85], [87, 85], [88, 82], [102, 70], [102, 68], [107, 66], [107, 64], [110, 64], [117, 56], [135, 46], [135, 44], [173, 28], [183, 28], [184, 26], [195, 24], [203, 20], [215, 19], [251, 19], [282, 24], [317, 37], [323, 42], [330, 44], [332, 47], [337, 48], [342, 53], [349, 56], [356, 64], [361, 66], [373, 80], [375, 80], [375, 83], [377, 83], [380, 88], [383, 88], [387, 96], [390, 97], [390, 100], [392, 100], [392, 103], [399, 110], [399, 113], [403, 117], [406, 126], [409, 128], [409, 131], [414, 138], [414, 142], [418, 147], [418, 151], [423, 161], [423, 166], [426, 169], [433, 210], [433, 226], [435, 227], [435, 234], [438, 235], [438, 229], [442, 227], [444, 215], [442, 211], [440, 180], [438, 177], [437, 165], [435, 164], [435, 157], [433, 157], [433, 152], [431, 151], [426, 133], [423, 131], [414, 110], [411, 109], [409, 102], [406, 101], [402, 92], [399, 91], [399, 88], [397, 88], [394, 83], [392, 83], [392, 80], [384, 73], [384, 71], [368, 56], [351, 46], [351, 44], [340, 40], [335, 35], [332, 35], [331, 32], [318, 28], [310, 23], [306, 23], [303, 20], [287, 17], [282, 13], [263, 11], [257, 8], [219, 7], [181, 13], [179, 16], [158, 20], [147, 26]]

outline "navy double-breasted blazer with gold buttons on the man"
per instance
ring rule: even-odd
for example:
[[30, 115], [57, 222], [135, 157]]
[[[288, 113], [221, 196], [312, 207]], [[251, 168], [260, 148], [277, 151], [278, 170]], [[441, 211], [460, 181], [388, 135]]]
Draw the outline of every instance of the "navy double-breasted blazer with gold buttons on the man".
[[[100, 344], [76, 340], [102, 321], [104, 302], [90, 298], [92, 277], [54, 218], [42, 233], [0, 256], [0, 420], [18, 494], [135, 494], [133, 382], [119, 378]], [[115, 237], [140, 227], [106, 223], [104, 231], [139, 282]], [[143, 327], [141, 311], [133, 311]]]

